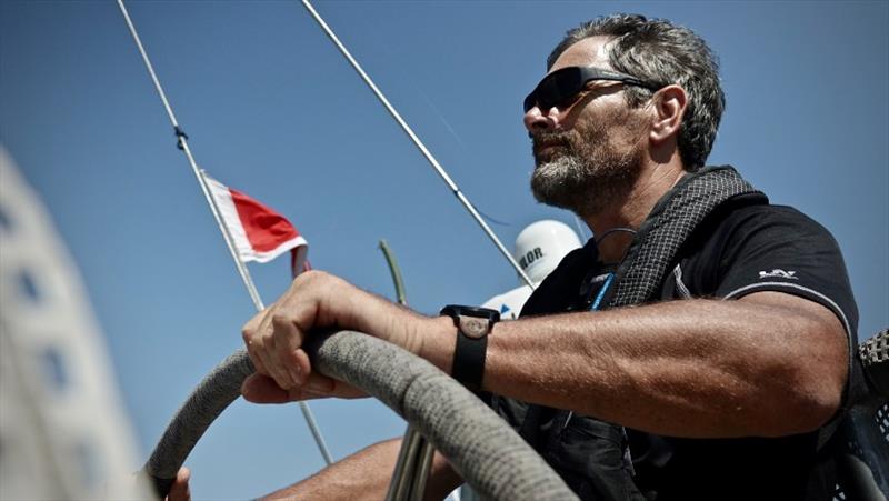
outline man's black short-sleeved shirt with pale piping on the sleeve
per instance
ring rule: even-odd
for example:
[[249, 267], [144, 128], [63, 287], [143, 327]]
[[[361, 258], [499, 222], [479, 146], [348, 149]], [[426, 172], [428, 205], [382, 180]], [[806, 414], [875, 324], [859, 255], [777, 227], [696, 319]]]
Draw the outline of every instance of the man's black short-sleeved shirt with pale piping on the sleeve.
[[[735, 300], [778, 291], [822, 304], [846, 329], [851, 363], [858, 312], [839, 247], [796, 209], [743, 196], [732, 199], [699, 224], [669, 270], [659, 301]], [[590, 241], [543, 281], [522, 317], [588, 309], [608, 271]], [[625, 433], [593, 418], [510, 399], [496, 397], [493, 407], [582, 499], [829, 500], [835, 488], [832, 464], [822, 457], [817, 432], [682, 439]]]

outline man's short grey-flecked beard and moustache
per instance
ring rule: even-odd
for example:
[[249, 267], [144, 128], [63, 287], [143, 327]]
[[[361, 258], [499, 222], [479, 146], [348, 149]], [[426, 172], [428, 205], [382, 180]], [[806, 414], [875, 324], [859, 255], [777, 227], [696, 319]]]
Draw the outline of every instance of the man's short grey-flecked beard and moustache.
[[581, 218], [622, 203], [639, 178], [639, 152], [628, 150], [618, 154], [606, 144], [589, 150], [587, 154], [569, 151], [538, 162], [531, 174], [535, 199]]

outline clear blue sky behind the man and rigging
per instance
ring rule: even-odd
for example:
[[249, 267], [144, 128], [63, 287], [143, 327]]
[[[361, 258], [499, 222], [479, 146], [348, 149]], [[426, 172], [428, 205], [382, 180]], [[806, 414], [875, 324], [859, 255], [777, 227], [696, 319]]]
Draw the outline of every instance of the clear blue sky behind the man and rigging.
[[[298, 2], [131, 1], [198, 162], [288, 216], [316, 268], [433, 313], [515, 272]], [[521, 100], [565, 30], [615, 11], [698, 31], [728, 94], [710, 163], [826, 226], [861, 337], [889, 324], [886, 2], [356, 2], [316, 8], [511, 247], [543, 218]], [[0, 140], [43, 197], [104, 330], [143, 454], [241, 344], [252, 305], [114, 2], [0, 3]], [[286, 259], [251, 265], [271, 302]], [[403, 424], [372, 401], [313, 402], [341, 458]], [[238, 402], [188, 464], [197, 499], [258, 495], [321, 467], [296, 405]]]

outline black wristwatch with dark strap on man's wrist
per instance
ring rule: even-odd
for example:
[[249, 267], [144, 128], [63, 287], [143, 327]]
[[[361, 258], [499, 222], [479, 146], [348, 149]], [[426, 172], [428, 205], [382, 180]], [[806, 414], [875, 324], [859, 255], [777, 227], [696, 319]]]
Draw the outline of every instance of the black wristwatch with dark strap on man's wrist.
[[448, 304], [439, 314], [447, 314], [457, 325], [451, 375], [468, 389], [480, 390], [481, 378], [485, 375], [488, 334], [493, 324], [500, 321], [500, 312], [487, 308]]

